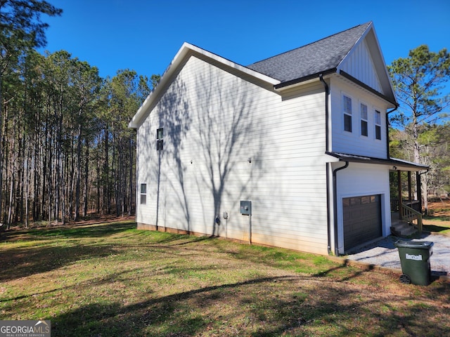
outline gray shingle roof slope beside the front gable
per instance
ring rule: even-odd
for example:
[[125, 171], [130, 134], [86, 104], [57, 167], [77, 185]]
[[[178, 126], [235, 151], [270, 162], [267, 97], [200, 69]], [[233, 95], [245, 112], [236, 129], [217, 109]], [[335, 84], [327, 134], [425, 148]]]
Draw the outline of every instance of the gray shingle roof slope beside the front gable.
[[285, 82], [333, 70], [366, 32], [371, 22], [331, 35], [247, 67]]

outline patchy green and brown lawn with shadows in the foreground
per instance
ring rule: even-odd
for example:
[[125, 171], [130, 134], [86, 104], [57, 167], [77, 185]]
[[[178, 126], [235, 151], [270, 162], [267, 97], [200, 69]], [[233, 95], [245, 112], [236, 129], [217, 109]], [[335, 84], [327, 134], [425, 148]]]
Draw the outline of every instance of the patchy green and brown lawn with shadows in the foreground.
[[2, 319], [52, 336], [445, 336], [450, 284], [400, 284], [323, 256], [134, 229], [15, 230], [0, 241]]

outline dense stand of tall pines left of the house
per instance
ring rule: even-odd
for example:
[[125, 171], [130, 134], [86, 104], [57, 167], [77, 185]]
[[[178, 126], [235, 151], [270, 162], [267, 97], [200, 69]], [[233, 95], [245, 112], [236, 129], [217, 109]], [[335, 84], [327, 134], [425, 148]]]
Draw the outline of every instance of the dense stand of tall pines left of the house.
[[102, 79], [67, 51], [15, 61], [1, 78], [1, 221], [133, 213], [136, 134], [127, 126], [152, 79], [133, 70]]

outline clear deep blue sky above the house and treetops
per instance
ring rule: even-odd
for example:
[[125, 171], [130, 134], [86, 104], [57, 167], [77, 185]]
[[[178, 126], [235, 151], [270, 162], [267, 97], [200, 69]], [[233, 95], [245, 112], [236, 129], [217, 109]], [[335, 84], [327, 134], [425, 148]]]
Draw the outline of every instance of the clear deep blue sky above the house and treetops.
[[162, 74], [184, 41], [240, 65], [373, 21], [385, 62], [427, 44], [450, 48], [449, 0], [48, 0], [45, 50], [98, 67]]

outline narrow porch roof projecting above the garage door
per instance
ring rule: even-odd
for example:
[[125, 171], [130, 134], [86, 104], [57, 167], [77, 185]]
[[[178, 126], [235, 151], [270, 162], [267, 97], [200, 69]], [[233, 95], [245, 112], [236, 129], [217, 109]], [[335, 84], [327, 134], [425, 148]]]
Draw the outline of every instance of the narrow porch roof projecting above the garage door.
[[366, 156], [358, 156], [356, 154], [348, 154], [348, 153], [340, 153], [340, 152], [326, 152], [330, 156], [338, 158], [339, 161], [351, 161], [355, 163], [363, 163], [363, 164], [379, 164], [391, 166], [391, 171], [427, 171], [429, 169], [428, 166], [423, 164], [412, 163], [411, 161], [406, 161], [397, 158], [373, 158]]

